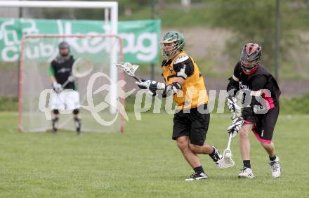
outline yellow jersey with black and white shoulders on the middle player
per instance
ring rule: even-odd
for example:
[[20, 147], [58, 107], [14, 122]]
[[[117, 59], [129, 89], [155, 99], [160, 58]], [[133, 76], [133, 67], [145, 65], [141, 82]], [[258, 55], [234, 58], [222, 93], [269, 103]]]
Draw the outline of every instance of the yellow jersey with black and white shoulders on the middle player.
[[162, 62], [165, 84], [172, 84], [175, 77], [185, 79], [181, 91], [173, 95], [178, 109], [191, 109], [208, 103], [208, 95], [197, 63], [185, 51], [171, 60]]

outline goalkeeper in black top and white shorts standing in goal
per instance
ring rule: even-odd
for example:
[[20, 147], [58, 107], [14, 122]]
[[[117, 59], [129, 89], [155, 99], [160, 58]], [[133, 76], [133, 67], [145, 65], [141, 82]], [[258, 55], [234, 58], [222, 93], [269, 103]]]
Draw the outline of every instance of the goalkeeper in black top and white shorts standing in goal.
[[[55, 91], [51, 97], [53, 131], [56, 132], [58, 129], [59, 110], [72, 110], [76, 131], [77, 134], [80, 134], [79, 93], [76, 91], [74, 77], [71, 75], [74, 58], [70, 55], [70, 45], [66, 41], [60, 42], [58, 48], [59, 55], [51, 62], [51, 67], [48, 70]], [[66, 85], [63, 87], [64, 84]]]

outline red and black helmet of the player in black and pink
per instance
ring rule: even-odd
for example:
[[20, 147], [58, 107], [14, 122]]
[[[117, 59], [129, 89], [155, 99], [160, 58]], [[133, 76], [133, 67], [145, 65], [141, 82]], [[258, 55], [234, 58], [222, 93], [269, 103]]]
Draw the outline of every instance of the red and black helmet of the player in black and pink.
[[242, 62], [242, 71], [250, 75], [258, 70], [258, 63], [262, 55], [262, 48], [258, 44], [249, 43], [242, 48], [240, 61]]

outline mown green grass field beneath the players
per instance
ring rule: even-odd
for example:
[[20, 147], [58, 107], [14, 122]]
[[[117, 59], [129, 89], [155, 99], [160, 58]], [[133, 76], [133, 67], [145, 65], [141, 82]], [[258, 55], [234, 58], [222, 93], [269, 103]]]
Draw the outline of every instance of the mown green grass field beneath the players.
[[[251, 135], [256, 178], [239, 180], [242, 168], [216, 169], [201, 156], [209, 180], [185, 182], [192, 169], [171, 140], [172, 115], [130, 114], [120, 133], [16, 133], [17, 114], [0, 113], [0, 197], [309, 197], [309, 115], [281, 115], [275, 145], [282, 177], [270, 176], [268, 157]], [[225, 149], [228, 114], [212, 114], [207, 141]]]

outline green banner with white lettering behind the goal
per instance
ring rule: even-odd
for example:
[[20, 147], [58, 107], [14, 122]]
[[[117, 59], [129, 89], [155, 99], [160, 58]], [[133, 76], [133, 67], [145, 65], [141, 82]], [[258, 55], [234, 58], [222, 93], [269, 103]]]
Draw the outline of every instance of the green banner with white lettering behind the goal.
[[[159, 62], [159, 20], [118, 22], [118, 32], [124, 40], [124, 60], [132, 63]], [[38, 20], [0, 18], [0, 61], [15, 62], [23, 34], [104, 34], [109, 25], [96, 20]], [[72, 50], [83, 46], [72, 44]], [[104, 44], [88, 46], [86, 53], [104, 51]], [[43, 53], [44, 54], [44, 53]], [[42, 58], [37, 53], [34, 58]]]

